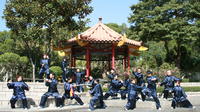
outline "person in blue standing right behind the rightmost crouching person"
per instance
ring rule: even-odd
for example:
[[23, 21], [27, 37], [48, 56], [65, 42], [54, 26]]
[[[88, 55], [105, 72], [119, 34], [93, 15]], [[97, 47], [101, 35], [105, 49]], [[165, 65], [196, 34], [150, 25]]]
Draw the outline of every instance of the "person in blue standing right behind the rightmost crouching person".
[[160, 86], [164, 85], [163, 93], [165, 99], [167, 99], [169, 97], [169, 94], [172, 92], [176, 80], [178, 80], [178, 78], [172, 75], [171, 70], [168, 70], [166, 72], [165, 79], [160, 84]]

